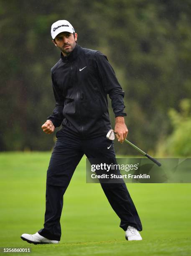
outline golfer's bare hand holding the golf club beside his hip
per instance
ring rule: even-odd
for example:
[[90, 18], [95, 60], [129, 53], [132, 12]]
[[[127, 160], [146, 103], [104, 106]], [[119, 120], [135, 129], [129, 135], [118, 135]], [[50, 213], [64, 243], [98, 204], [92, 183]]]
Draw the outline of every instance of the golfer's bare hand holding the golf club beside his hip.
[[117, 133], [116, 136], [118, 141], [120, 141], [120, 143], [123, 143], [123, 141], [125, 141], [125, 139], [127, 138], [128, 134], [128, 129], [125, 125], [124, 117], [117, 116], [115, 118], [115, 132]]

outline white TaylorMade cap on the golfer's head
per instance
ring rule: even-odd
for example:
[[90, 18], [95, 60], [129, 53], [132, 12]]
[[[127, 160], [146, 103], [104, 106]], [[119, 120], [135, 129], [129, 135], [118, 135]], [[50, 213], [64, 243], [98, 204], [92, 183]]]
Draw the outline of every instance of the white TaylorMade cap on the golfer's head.
[[75, 33], [74, 28], [71, 26], [68, 20], [58, 20], [51, 26], [51, 36], [54, 39], [61, 32]]

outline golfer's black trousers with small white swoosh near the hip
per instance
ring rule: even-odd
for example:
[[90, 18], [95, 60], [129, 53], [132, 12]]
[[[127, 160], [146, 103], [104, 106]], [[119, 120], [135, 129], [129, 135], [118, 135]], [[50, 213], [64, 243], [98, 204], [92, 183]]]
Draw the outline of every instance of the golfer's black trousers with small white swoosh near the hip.
[[[93, 139], [80, 139], [56, 134], [55, 143], [46, 180], [46, 212], [44, 228], [38, 231], [41, 236], [60, 241], [60, 218], [63, 207], [63, 195], [82, 156], [87, 158], [115, 159], [113, 142], [106, 136]], [[112, 143], [112, 146], [107, 149]], [[135, 205], [125, 183], [102, 183], [102, 189], [111, 207], [119, 216], [120, 227], [127, 230], [128, 225], [142, 230]]]

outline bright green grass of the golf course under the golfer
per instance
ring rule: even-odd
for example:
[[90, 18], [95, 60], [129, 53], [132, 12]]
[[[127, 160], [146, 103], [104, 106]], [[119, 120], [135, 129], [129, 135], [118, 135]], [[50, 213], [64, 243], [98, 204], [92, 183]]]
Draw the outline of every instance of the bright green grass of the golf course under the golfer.
[[[87, 184], [85, 158], [64, 196], [59, 245], [31, 245], [22, 233], [43, 227], [50, 152], [0, 154], [0, 247], [31, 255], [191, 255], [191, 185], [127, 184], [143, 224], [143, 241], [126, 241], [99, 184]], [[6, 253], [6, 255], [25, 253]]]

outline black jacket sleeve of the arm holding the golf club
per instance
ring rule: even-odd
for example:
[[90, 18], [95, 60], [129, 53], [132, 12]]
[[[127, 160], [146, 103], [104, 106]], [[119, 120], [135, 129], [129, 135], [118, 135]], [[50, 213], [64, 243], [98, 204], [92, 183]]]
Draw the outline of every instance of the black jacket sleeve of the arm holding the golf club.
[[124, 105], [124, 91], [122, 90], [115, 72], [110, 65], [107, 57], [102, 54], [100, 51], [97, 51], [95, 54], [97, 69], [99, 72], [99, 77], [102, 81], [104, 90], [112, 101], [112, 109], [117, 116], [126, 116], [126, 113], [123, 113], [125, 105]]

